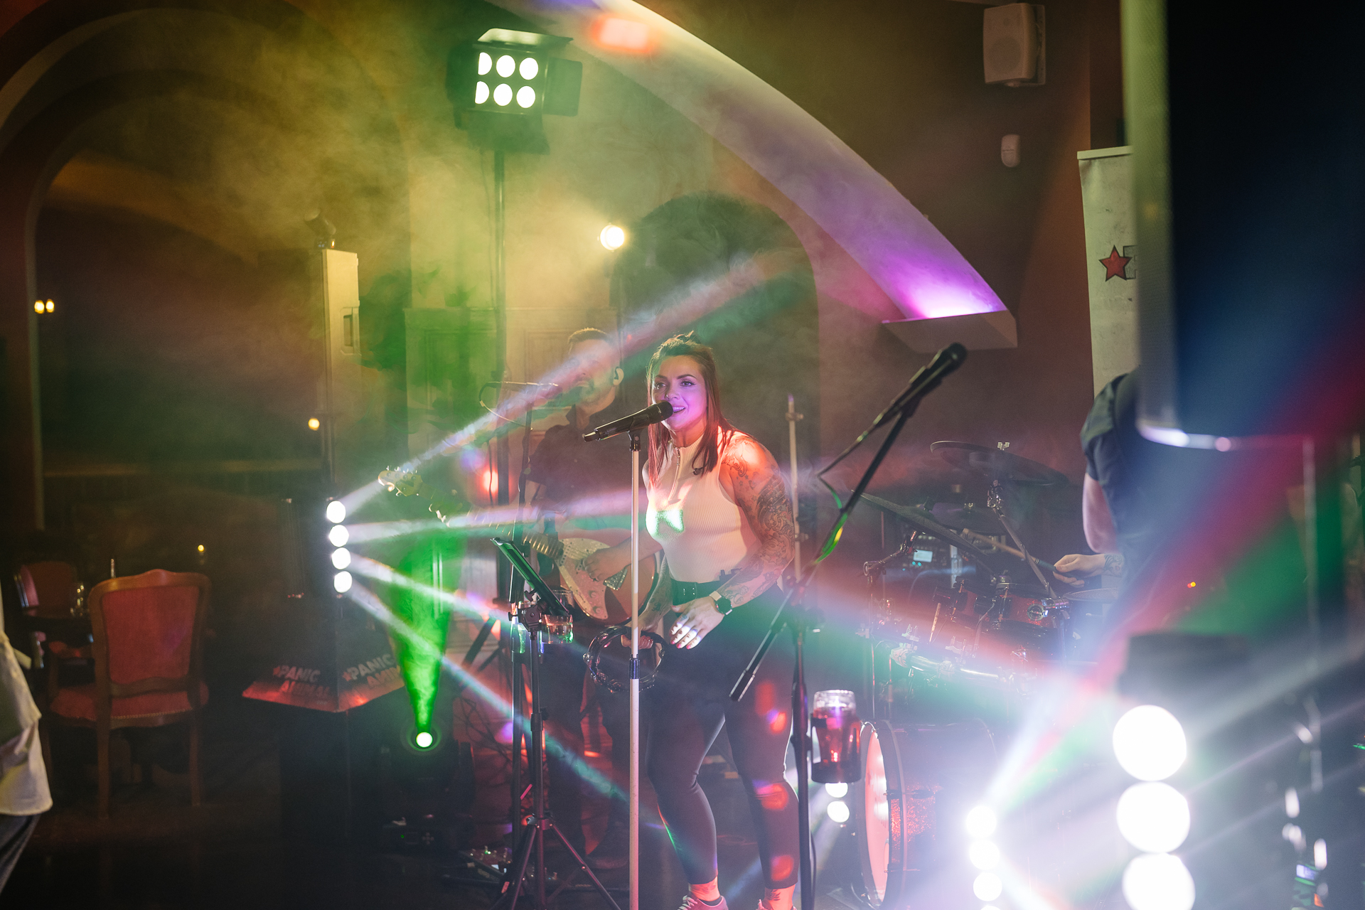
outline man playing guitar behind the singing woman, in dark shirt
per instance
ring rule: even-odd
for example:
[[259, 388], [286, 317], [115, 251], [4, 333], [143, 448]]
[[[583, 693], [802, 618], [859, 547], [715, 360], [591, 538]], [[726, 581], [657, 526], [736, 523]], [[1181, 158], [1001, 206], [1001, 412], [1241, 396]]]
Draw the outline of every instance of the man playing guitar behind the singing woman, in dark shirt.
[[[583, 434], [629, 413], [621, 401], [624, 372], [616, 342], [599, 329], [579, 329], [569, 336], [566, 385], [573, 404], [565, 412], [568, 423], [550, 427], [531, 456], [527, 471], [526, 499], [539, 512], [557, 513], [575, 528], [629, 528], [631, 452], [627, 445], [584, 442]], [[658, 550], [652, 539], [642, 536], [640, 555]], [[629, 562], [629, 544], [602, 550], [584, 566], [602, 581]], [[643, 599], [642, 592], [642, 599]], [[627, 604], [629, 611], [629, 604]], [[573, 644], [546, 648], [545, 686], [550, 733], [571, 752], [583, 752], [583, 679], [587, 667], [583, 654], [588, 643], [606, 628], [579, 614], [573, 619]], [[629, 780], [631, 719], [624, 697], [606, 692], [601, 696], [602, 726], [612, 737], [612, 776], [617, 791], [612, 798], [607, 830], [588, 857], [595, 869], [618, 869], [627, 862], [628, 825], [624, 798]], [[550, 808], [575, 849], [583, 851], [581, 778], [569, 761], [556, 752], [549, 754]]]

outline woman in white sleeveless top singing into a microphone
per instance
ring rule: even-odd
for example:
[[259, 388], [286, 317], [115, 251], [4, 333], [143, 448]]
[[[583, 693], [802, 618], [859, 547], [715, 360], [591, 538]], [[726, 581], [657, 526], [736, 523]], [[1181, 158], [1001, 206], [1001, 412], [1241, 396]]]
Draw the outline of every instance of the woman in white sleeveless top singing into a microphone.
[[792, 729], [792, 655], [773, 648], [745, 697], [729, 690], [758, 648], [792, 561], [792, 506], [773, 456], [721, 413], [715, 359], [688, 336], [650, 360], [651, 401], [673, 415], [650, 427], [650, 535], [665, 562], [642, 625], [670, 641], [662, 678], [646, 693], [650, 782], [689, 894], [681, 910], [721, 907], [715, 820], [698, 786], [711, 742], [726, 727], [758, 828], [763, 910], [790, 910], [797, 879], [796, 795], [782, 775]]

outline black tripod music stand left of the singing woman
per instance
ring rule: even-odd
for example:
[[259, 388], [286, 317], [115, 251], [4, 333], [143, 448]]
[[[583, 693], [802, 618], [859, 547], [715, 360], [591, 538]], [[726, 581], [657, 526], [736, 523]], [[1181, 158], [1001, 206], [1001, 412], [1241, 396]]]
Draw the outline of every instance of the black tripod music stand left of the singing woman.
[[[521, 891], [527, 885], [527, 865], [531, 861], [531, 854], [535, 854], [534, 865], [534, 906], [535, 910], [545, 910], [549, 907], [549, 902], [560, 895], [573, 877], [577, 875], [575, 872], [554, 890], [553, 894], [546, 896], [545, 894], [545, 835], [547, 831], [553, 831], [554, 836], [560, 839], [573, 861], [579, 864], [581, 872], [587, 872], [588, 879], [592, 881], [592, 887], [597, 888], [602, 899], [606, 900], [612, 910], [621, 910], [612, 895], [607, 892], [606, 887], [592, 875], [592, 869], [588, 868], [579, 851], [573, 849], [564, 832], [554, 824], [554, 819], [550, 816], [549, 809], [545, 805], [545, 708], [541, 703], [541, 662], [545, 655], [545, 637], [546, 628], [549, 625], [547, 619], [569, 617], [569, 610], [554, 592], [545, 583], [545, 580], [536, 574], [531, 568], [530, 561], [521, 554], [516, 546], [501, 538], [494, 538], [493, 543], [497, 544], [502, 555], [508, 558], [512, 568], [516, 569], [521, 578], [531, 585], [532, 591], [536, 593], [536, 599], [521, 600], [516, 604], [516, 610], [509, 614], [508, 619], [519, 622], [527, 632], [531, 633], [531, 647], [527, 651], [527, 662], [531, 664], [531, 730], [530, 730], [530, 744], [527, 749], [527, 757], [531, 764], [531, 816], [526, 820], [526, 825], [521, 831], [521, 839], [516, 846], [516, 851], [512, 854], [512, 862], [508, 864], [506, 872], [502, 876], [501, 896], [494, 902], [493, 909], [501, 910], [516, 910], [517, 900], [521, 898]], [[515, 625], [513, 625], [515, 628]], [[516, 716], [516, 703], [513, 701], [513, 718], [512, 729], [517, 730], [521, 720]], [[513, 737], [515, 739], [515, 737]], [[519, 761], [520, 756], [513, 754], [513, 763]], [[520, 814], [520, 801], [516, 804], [515, 810]]]

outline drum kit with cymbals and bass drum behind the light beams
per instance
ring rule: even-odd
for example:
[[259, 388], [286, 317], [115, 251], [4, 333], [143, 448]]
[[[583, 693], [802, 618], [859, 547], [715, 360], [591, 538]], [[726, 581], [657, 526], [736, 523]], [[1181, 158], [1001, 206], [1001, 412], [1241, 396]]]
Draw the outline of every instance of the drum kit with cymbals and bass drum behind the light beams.
[[[850, 801], [861, 866], [853, 891], [868, 907], [947, 906], [942, 899], [958, 894], [961, 881], [943, 876], [958, 879], [949, 869], [965, 854], [954, 860], [950, 847], [987, 790], [996, 737], [1057, 671], [1088, 666], [1117, 595], [1073, 589], [1021, 538], [1011, 516], [1021, 497], [1065, 484], [1062, 473], [1003, 445], [936, 442], [932, 452], [987, 483], [984, 508], [863, 497], [901, 529], [895, 553], [864, 565], [872, 718]], [[886, 596], [890, 573], [912, 578], [909, 593]]]

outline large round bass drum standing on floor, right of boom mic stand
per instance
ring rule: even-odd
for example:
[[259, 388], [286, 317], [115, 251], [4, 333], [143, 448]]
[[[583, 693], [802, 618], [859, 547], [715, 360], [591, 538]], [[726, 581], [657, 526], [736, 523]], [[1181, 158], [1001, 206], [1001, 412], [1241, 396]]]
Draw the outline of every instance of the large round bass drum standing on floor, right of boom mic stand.
[[980, 720], [863, 724], [863, 780], [853, 784], [854, 839], [863, 875], [853, 891], [868, 907], [965, 906], [968, 810], [995, 769], [995, 744]]

